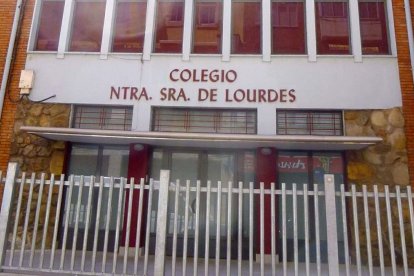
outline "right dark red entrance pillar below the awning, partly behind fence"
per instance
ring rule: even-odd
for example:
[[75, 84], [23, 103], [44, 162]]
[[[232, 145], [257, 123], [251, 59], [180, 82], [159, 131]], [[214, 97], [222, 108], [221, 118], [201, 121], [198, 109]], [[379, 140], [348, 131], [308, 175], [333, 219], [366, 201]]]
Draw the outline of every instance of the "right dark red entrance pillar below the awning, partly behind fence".
[[[256, 188], [260, 188], [260, 182], [264, 183], [265, 189], [270, 189], [271, 183], [276, 182], [276, 166], [277, 166], [277, 155], [276, 149], [271, 149], [270, 154], [263, 154], [261, 152], [262, 148], [257, 149], [257, 170], [256, 170]], [[276, 187], [276, 186], [275, 186]], [[257, 200], [257, 204], [260, 204]], [[277, 202], [275, 202], [277, 206]], [[265, 195], [264, 197], [264, 252], [265, 254], [271, 254], [271, 205], [270, 205], [270, 195]], [[260, 252], [260, 208], [257, 206], [257, 253]], [[276, 226], [275, 226], [276, 227]], [[277, 233], [277, 229], [275, 229]]]

